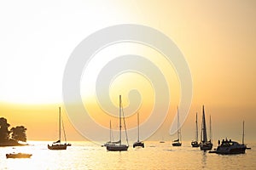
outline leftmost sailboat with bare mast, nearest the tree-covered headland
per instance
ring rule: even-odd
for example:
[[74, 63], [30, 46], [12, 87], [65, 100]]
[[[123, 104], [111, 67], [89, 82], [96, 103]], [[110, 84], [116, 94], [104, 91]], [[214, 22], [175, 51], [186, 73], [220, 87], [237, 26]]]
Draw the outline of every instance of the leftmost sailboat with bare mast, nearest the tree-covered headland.
[[48, 144], [49, 150], [66, 150], [67, 146], [71, 145], [69, 143], [67, 144], [66, 133], [65, 133], [64, 126], [63, 126], [63, 122], [62, 122], [62, 128], [63, 128], [63, 133], [64, 133], [66, 143], [61, 144], [61, 120], [62, 120], [61, 119], [61, 107], [59, 107], [59, 139], [51, 145]]

